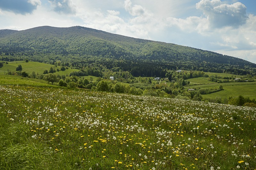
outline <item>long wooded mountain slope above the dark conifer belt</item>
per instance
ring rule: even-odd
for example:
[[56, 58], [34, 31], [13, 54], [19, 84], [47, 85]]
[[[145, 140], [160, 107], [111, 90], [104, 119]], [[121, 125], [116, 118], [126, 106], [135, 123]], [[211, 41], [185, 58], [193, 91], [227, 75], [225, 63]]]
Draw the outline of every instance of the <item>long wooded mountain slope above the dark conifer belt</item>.
[[[112, 34], [105, 31], [74, 26], [51, 27], [41, 26], [21, 31], [0, 30], [0, 54], [2, 56], [79, 56], [98, 59], [108, 58], [129, 61], [154, 61], [200, 70], [210, 67], [225, 70], [256, 68], [256, 64], [241, 58], [222, 55], [216, 52], [165, 43], [153, 40]], [[49, 58], [49, 57], [48, 57]], [[52, 61], [57, 60], [53, 58]], [[67, 58], [66, 58], [67, 59]], [[172, 67], [172, 69], [173, 69]], [[247, 69], [248, 70], [248, 69]]]

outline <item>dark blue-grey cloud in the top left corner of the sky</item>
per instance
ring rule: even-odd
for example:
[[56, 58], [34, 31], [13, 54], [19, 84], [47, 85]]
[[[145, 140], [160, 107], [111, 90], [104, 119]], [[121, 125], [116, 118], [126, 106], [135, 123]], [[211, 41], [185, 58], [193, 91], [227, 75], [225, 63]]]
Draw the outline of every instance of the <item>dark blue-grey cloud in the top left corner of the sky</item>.
[[22, 15], [31, 14], [38, 5], [41, 5], [40, 0], [0, 0], [2, 10]]

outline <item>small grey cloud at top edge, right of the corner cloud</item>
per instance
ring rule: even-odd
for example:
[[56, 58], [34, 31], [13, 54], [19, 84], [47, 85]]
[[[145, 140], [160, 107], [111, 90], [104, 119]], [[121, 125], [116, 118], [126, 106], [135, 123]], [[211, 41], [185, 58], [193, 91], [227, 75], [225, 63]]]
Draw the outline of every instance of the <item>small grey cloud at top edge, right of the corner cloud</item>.
[[76, 13], [74, 4], [71, 0], [48, 0], [53, 7], [53, 10], [58, 13], [73, 14]]

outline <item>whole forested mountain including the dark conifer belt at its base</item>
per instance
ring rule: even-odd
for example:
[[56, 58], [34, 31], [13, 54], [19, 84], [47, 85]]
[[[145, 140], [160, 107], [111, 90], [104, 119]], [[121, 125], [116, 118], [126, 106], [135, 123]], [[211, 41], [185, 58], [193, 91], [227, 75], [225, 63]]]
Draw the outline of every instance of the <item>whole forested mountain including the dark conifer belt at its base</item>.
[[[83, 68], [119, 67], [135, 76], [164, 69], [255, 74], [256, 64], [211, 51], [137, 39], [86, 27], [0, 30], [0, 60], [30, 60]], [[163, 74], [163, 73], [162, 73]], [[159, 75], [159, 74], [158, 74]]]

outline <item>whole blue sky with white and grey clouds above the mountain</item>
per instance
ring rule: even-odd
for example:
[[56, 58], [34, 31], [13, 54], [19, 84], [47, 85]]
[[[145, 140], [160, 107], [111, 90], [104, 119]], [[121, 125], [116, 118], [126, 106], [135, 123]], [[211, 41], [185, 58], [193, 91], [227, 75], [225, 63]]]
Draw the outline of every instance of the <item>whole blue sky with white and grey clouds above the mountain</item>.
[[256, 0], [0, 0], [0, 29], [83, 26], [256, 63]]

